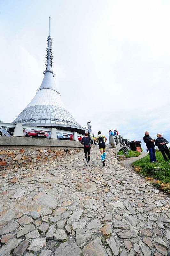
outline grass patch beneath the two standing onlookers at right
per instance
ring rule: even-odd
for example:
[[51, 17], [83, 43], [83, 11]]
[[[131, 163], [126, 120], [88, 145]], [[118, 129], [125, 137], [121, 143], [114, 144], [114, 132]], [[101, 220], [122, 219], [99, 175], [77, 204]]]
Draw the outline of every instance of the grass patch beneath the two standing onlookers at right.
[[148, 154], [148, 156], [135, 161], [133, 166], [136, 172], [145, 176], [156, 188], [170, 194], [170, 165], [165, 162], [160, 151], [156, 151], [156, 159], [158, 163], [150, 163]]

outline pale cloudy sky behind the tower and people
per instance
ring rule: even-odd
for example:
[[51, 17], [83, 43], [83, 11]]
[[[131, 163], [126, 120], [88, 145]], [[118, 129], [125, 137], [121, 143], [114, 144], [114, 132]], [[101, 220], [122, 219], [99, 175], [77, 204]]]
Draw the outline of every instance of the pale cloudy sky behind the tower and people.
[[35, 96], [52, 17], [55, 81], [81, 126], [170, 141], [170, 1], [0, 1], [0, 119]]

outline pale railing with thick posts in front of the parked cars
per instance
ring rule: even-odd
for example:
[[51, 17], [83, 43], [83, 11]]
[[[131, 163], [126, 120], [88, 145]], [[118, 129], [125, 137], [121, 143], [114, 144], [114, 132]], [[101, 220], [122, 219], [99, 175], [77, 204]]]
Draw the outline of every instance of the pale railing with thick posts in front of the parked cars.
[[73, 140], [77, 140], [77, 141], [78, 141], [77, 136], [84, 137], [84, 135], [79, 134], [77, 132], [58, 130], [58, 129], [55, 129], [55, 128], [45, 128], [45, 127], [39, 127], [39, 126], [31, 126], [31, 125], [25, 125], [25, 124], [21, 124], [21, 123], [16, 123], [16, 124], [0, 123], [0, 126], [8, 127], [8, 128], [14, 128], [14, 132], [13, 132], [12, 136], [19, 136], [19, 137], [24, 137], [24, 133], [23, 133], [24, 129], [41, 130], [41, 131], [44, 131], [44, 132], [51, 132], [51, 138], [50, 139], [57, 139], [57, 132], [72, 134], [73, 135]]

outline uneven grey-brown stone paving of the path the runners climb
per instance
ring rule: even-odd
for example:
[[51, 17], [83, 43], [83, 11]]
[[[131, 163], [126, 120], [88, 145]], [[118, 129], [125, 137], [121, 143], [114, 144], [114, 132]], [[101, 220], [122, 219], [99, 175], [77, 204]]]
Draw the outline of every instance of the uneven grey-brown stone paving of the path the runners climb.
[[105, 167], [96, 146], [90, 166], [80, 152], [1, 172], [0, 195], [0, 256], [170, 253], [169, 196], [112, 149]]

